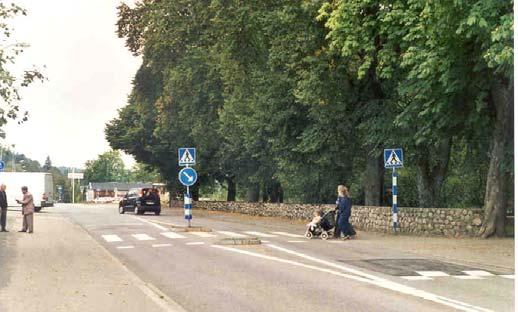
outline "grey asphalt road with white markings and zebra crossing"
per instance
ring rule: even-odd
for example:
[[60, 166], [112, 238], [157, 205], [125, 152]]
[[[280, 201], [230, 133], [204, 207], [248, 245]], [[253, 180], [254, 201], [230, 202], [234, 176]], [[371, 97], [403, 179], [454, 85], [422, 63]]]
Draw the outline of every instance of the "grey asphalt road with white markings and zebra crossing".
[[[120, 215], [107, 205], [49, 208], [83, 227], [186, 311], [514, 311], [514, 274], [416, 257], [357, 240], [307, 240], [283, 221], [182, 211]], [[260, 245], [222, 245], [259, 237]], [[469, 259], [467, 259], [469, 260]]]

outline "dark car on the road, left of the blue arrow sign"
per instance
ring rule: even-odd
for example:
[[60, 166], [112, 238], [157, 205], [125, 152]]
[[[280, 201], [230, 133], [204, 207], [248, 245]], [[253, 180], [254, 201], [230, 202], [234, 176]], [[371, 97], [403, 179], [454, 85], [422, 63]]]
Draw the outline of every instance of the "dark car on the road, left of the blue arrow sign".
[[144, 214], [152, 211], [160, 215], [160, 195], [155, 188], [137, 188], [128, 191], [119, 202], [119, 213], [133, 211], [135, 214]]

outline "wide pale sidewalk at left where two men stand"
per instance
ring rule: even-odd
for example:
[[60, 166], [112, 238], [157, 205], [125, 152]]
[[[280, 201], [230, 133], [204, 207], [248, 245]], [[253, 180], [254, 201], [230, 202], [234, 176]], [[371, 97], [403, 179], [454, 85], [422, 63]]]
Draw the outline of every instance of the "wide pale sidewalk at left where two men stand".
[[166, 311], [158, 291], [68, 219], [35, 214], [34, 234], [18, 233], [21, 223], [9, 211], [0, 233], [0, 311]]

